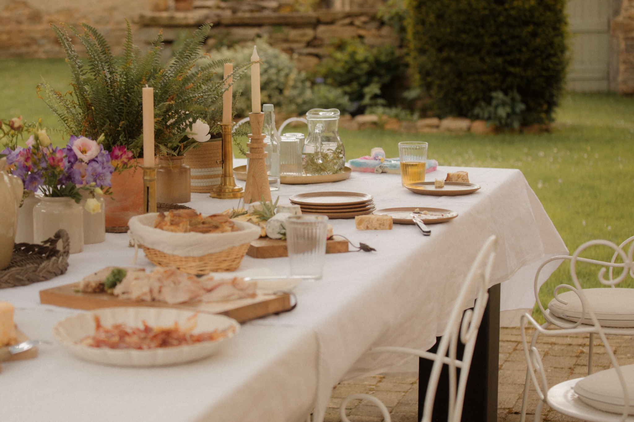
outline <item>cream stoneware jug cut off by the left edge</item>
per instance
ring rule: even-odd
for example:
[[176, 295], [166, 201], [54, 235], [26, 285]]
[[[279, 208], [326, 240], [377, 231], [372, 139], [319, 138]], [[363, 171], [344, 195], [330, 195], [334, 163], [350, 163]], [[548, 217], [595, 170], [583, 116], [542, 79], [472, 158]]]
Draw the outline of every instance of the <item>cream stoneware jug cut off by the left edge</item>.
[[4, 170], [6, 157], [0, 158], [0, 270], [11, 262], [15, 232], [18, 227], [18, 207], [22, 201], [22, 181]]

